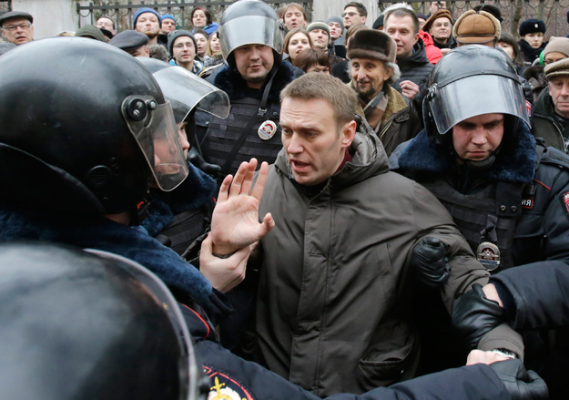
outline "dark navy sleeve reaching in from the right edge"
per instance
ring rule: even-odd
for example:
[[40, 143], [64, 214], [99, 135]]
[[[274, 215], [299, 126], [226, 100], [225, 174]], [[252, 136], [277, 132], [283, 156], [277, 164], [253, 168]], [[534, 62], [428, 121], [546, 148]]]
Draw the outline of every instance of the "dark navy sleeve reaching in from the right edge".
[[569, 324], [569, 265], [534, 262], [494, 275], [515, 304], [513, 329], [553, 328]]

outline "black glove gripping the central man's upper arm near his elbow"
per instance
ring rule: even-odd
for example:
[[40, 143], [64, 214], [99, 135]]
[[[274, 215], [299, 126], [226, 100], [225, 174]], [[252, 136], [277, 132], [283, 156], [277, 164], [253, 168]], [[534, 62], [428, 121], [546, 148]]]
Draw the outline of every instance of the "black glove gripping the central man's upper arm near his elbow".
[[417, 280], [430, 288], [441, 287], [451, 276], [446, 247], [437, 238], [422, 238], [412, 250], [411, 265]]

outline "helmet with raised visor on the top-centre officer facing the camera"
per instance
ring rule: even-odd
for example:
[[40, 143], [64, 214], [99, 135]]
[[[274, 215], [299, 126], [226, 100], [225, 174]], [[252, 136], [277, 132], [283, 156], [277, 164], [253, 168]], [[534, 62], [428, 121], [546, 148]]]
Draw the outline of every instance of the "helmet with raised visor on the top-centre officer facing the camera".
[[229, 5], [221, 16], [221, 54], [230, 67], [235, 67], [233, 50], [253, 44], [271, 47], [275, 65], [278, 65], [284, 46], [284, 26], [270, 5], [261, 0], [239, 0]]

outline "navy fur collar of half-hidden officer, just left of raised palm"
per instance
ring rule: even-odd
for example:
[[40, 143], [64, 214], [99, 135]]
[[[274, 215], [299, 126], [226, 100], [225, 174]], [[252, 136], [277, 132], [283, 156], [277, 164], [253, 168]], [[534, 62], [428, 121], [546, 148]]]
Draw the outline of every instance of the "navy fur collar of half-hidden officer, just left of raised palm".
[[153, 199], [148, 207], [148, 216], [141, 224], [150, 236], [164, 231], [181, 212], [213, 209], [213, 199], [217, 194], [216, 181], [192, 164], [188, 164], [188, 167], [188, 178], [175, 190], [150, 190]]

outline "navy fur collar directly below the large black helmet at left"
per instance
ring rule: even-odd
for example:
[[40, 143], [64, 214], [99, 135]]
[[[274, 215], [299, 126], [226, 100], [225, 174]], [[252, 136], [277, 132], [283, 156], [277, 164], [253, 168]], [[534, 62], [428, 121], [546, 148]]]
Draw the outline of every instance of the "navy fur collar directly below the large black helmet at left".
[[54, 241], [113, 252], [144, 265], [170, 290], [207, 306], [211, 283], [193, 265], [148, 236], [99, 216], [64, 215], [0, 206], [0, 241]]

